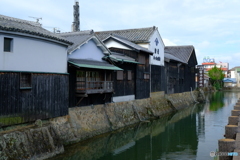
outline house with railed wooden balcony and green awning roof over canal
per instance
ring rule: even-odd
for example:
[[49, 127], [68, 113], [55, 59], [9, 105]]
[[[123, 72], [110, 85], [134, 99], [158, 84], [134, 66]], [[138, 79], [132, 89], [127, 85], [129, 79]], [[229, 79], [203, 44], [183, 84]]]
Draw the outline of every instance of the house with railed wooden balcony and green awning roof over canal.
[[70, 107], [112, 101], [113, 72], [121, 71], [104, 60], [111, 53], [93, 31], [60, 34], [74, 44], [68, 49]]

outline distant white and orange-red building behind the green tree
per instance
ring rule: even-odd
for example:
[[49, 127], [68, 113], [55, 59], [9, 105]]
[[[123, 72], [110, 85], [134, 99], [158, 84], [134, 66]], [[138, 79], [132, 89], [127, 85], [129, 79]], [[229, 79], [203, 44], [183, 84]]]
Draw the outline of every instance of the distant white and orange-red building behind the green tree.
[[216, 66], [217, 68], [221, 68], [225, 77], [228, 77], [229, 63], [223, 63], [223, 62], [216, 63], [214, 58], [207, 57], [203, 59], [202, 65], [204, 66], [204, 70], [206, 73], [208, 73], [210, 69]]

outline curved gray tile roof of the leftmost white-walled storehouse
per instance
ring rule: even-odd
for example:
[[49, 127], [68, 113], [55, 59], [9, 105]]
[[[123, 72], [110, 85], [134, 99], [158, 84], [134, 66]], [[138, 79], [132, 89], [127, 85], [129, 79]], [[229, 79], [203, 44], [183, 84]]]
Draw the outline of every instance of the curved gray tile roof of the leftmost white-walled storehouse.
[[58, 34], [52, 33], [42, 28], [39, 23], [8, 17], [4, 15], [0, 15], [0, 31], [1, 30], [15, 32], [16, 34], [17, 33], [29, 34], [37, 37], [52, 39], [66, 44], [72, 44], [66, 39], [58, 36]]

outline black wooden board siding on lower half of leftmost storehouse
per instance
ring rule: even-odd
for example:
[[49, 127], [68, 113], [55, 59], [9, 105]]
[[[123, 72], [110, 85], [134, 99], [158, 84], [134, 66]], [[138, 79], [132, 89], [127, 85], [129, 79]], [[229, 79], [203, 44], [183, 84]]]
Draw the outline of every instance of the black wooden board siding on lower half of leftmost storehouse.
[[20, 73], [0, 72], [0, 126], [68, 114], [68, 75], [32, 73], [32, 88], [20, 89]]

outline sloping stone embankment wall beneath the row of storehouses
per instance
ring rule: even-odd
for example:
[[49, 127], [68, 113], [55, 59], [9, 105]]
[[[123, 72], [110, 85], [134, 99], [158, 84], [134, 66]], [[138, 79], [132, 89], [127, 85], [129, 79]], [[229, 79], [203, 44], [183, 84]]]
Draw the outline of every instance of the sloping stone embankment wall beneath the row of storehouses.
[[194, 103], [199, 92], [164, 95], [152, 93], [151, 98], [69, 109], [69, 115], [48, 121], [43, 127], [0, 132], [0, 160], [46, 159], [64, 151], [63, 145], [166, 113]]

